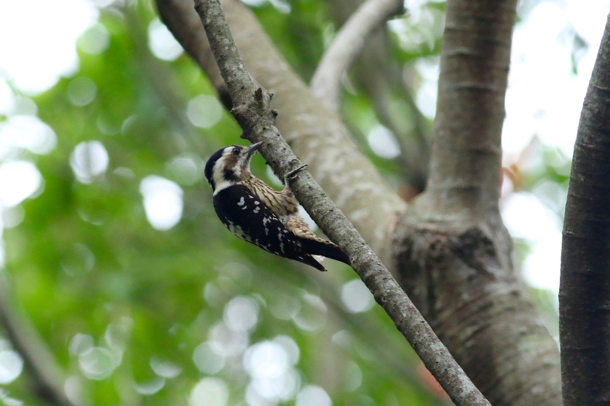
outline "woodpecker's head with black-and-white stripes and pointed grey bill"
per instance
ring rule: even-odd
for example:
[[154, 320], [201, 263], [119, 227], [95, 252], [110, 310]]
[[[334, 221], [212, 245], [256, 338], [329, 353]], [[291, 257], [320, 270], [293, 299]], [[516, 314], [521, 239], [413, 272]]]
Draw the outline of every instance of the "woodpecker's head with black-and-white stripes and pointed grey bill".
[[214, 193], [225, 187], [234, 185], [252, 175], [250, 172], [250, 159], [260, 148], [263, 142], [244, 147], [242, 145], [229, 145], [219, 149], [210, 156], [206, 163], [206, 179], [212, 186]]

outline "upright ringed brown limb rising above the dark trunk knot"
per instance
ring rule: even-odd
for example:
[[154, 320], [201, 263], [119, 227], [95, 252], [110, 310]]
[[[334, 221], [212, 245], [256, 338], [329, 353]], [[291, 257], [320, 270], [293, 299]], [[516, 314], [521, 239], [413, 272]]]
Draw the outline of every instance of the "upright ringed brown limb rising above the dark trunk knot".
[[448, 1], [428, 191], [434, 210], [498, 212], [517, 0]]

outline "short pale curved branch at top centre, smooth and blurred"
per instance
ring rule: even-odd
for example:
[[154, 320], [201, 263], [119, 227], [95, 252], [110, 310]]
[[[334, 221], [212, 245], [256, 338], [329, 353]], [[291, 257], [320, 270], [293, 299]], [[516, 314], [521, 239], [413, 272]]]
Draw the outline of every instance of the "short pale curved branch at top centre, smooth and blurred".
[[403, 12], [403, 0], [367, 0], [343, 24], [311, 79], [312, 91], [328, 108], [338, 110], [341, 77], [368, 35], [388, 18]]

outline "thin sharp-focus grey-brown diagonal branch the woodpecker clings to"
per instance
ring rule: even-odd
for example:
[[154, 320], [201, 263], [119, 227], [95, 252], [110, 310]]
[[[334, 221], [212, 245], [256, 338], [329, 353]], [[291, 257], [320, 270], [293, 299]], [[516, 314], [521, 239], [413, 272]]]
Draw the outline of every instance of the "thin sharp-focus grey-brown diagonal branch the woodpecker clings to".
[[[232, 111], [242, 126], [245, 137], [251, 141], [265, 141], [262, 155], [274, 170], [287, 173], [300, 162], [274, 125], [276, 113], [268, 108], [270, 96], [256, 88], [243, 67], [220, 3], [217, 0], [195, 0], [195, 7], [206, 29], [221, 75], [234, 100]], [[345, 215], [326, 197], [307, 170], [300, 172], [290, 182], [290, 186], [321, 229], [350, 256], [354, 270], [451, 399], [458, 405], [489, 405], [389, 271]]]

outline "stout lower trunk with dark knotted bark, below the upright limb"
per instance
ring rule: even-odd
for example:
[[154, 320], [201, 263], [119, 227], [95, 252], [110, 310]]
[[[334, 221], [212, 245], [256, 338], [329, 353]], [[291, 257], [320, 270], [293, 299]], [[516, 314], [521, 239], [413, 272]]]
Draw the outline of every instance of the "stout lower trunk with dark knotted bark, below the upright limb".
[[401, 224], [400, 284], [493, 405], [561, 405], [557, 346], [486, 226]]

